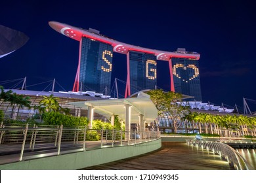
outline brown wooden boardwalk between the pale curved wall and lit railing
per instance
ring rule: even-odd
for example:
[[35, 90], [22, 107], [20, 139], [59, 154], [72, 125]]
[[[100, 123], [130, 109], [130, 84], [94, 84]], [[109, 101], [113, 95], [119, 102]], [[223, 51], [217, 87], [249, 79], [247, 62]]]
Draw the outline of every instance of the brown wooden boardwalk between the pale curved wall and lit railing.
[[185, 142], [162, 142], [159, 150], [121, 159], [111, 163], [86, 167], [83, 170], [229, 170], [220, 156], [188, 146]]

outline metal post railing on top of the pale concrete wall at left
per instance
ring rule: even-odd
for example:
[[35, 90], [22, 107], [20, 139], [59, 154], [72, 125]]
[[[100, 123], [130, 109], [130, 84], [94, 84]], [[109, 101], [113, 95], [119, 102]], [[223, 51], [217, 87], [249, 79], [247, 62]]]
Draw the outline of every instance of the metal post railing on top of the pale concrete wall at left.
[[[161, 138], [160, 131], [98, 130], [62, 125], [5, 124], [1, 125], [0, 132], [0, 164], [98, 148], [131, 146]], [[8, 160], [8, 156], [16, 158]]]

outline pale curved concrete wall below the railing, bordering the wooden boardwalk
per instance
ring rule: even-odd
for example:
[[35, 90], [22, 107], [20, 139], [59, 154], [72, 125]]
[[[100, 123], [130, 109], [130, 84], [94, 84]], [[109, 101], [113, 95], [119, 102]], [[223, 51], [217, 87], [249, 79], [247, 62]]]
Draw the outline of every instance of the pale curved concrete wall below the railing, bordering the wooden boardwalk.
[[130, 158], [161, 147], [161, 139], [133, 146], [102, 148], [0, 165], [1, 170], [75, 170]]

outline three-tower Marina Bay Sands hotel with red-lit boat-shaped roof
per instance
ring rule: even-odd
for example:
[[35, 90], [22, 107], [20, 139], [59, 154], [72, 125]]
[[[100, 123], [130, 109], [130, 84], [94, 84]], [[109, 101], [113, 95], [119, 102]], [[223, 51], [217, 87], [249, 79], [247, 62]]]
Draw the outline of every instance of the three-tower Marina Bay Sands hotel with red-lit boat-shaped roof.
[[49, 22], [49, 25], [55, 31], [79, 41], [73, 92], [81, 91], [81, 84], [98, 93], [106, 87], [110, 88], [113, 52], [117, 52], [127, 56], [125, 97], [138, 92], [139, 88], [154, 89], [158, 83], [157, 61], [168, 61], [170, 90], [202, 101], [198, 69], [200, 54], [196, 52], [186, 52], [184, 48], [176, 52], [142, 48], [104, 37], [95, 29], [85, 30], [59, 22]]

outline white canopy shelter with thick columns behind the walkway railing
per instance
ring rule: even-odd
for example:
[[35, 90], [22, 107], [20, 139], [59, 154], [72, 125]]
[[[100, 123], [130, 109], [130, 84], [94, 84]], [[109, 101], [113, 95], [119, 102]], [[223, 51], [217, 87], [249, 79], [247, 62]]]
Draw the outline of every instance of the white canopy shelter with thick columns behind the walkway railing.
[[125, 121], [127, 131], [131, 129], [131, 123], [140, 124], [140, 131], [144, 131], [145, 122], [150, 123], [158, 118], [158, 110], [151, 101], [150, 95], [143, 92], [133, 98], [75, 102], [70, 105], [88, 110], [89, 127], [92, 127], [94, 112], [111, 118], [113, 124], [114, 115], [118, 115]]

